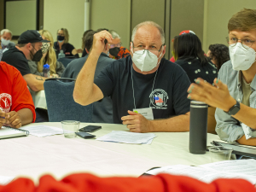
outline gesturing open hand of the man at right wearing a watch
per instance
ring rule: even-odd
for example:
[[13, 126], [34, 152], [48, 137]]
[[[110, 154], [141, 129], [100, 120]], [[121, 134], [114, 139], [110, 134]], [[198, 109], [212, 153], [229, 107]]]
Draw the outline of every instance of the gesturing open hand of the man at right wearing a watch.
[[209, 84], [200, 78], [196, 79], [195, 84], [190, 84], [189, 86], [188, 98], [206, 102], [214, 108], [221, 108], [228, 112], [236, 104], [236, 100], [230, 96], [228, 86], [219, 79], [214, 79], [213, 84]]

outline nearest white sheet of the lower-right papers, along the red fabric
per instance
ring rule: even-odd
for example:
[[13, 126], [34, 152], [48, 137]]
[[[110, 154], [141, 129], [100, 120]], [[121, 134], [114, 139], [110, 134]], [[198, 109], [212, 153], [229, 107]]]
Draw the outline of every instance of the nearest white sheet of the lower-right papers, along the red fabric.
[[[209, 164], [207, 164], [209, 165]], [[183, 175], [188, 177], [194, 177], [198, 180], [201, 180], [205, 183], [211, 183], [213, 180], [217, 178], [242, 178], [246, 179], [247, 181], [255, 184], [256, 177], [253, 175], [242, 174], [241, 172], [223, 172], [222, 168], [219, 167], [213, 170], [204, 165], [201, 166], [184, 166], [184, 165], [176, 165], [176, 166], [164, 166], [158, 169], [150, 170], [146, 173], [151, 175], [156, 175], [159, 173], [169, 173], [172, 175]]]

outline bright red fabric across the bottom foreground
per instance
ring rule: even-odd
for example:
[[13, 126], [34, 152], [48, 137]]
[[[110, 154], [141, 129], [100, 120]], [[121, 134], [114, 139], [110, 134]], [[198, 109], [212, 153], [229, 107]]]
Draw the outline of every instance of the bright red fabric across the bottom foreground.
[[0, 185], [0, 192], [256, 192], [253, 184], [242, 179], [217, 179], [202, 183], [194, 178], [160, 174], [152, 177], [96, 177], [90, 174], [73, 174], [56, 181], [45, 175], [36, 187], [28, 178], [18, 178]]

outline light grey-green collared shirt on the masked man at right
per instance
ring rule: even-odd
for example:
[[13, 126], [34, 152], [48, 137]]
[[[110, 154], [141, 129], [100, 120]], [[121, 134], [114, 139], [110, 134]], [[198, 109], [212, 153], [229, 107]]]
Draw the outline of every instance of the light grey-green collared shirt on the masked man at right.
[[[237, 102], [241, 102], [243, 98], [241, 75], [241, 71], [238, 72], [232, 68], [231, 61], [225, 62], [218, 73], [218, 79], [228, 85], [230, 96], [234, 97]], [[256, 90], [256, 75], [250, 86], [253, 92], [249, 98], [249, 107], [256, 108], [256, 91], [254, 91]], [[222, 109], [216, 109], [215, 119], [217, 121], [216, 132], [222, 140], [229, 143], [236, 143], [236, 140], [244, 135], [241, 128], [241, 122], [230, 116], [228, 113], [225, 113]]]

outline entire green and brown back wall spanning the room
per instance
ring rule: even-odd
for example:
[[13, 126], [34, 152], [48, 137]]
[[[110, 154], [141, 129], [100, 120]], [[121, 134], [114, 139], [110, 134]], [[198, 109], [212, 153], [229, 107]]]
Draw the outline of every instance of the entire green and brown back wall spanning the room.
[[[85, 0], [44, 1], [44, 29], [54, 39], [56, 31], [66, 27], [70, 43], [77, 49], [82, 45], [84, 32]], [[114, 29], [119, 32], [122, 43], [130, 46], [131, 30], [143, 20], [154, 20], [165, 26], [166, 3], [171, 0], [90, 0], [90, 28]], [[210, 44], [226, 44], [228, 21], [242, 8], [256, 9], [255, 0], [172, 0], [170, 41], [183, 30], [192, 30], [201, 39], [203, 49]], [[20, 8], [21, 9], [21, 8]], [[0, 30], [3, 29], [4, 0], [0, 0]], [[42, 13], [41, 13], [42, 15]], [[17, 15], [18, 16], [18, 15]], [[172, 49], [170, 49], [171, 52]], [[171, 54], [172, 56], [172, 54]]]

